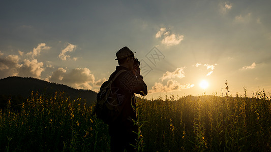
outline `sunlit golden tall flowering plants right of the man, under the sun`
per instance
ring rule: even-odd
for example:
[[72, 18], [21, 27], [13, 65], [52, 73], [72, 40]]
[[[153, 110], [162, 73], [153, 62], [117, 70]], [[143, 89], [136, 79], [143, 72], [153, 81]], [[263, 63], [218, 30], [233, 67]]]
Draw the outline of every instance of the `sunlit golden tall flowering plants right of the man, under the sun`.
[[186, 96], [140, 101], [146, 151], [270, 151], [271, 101]]

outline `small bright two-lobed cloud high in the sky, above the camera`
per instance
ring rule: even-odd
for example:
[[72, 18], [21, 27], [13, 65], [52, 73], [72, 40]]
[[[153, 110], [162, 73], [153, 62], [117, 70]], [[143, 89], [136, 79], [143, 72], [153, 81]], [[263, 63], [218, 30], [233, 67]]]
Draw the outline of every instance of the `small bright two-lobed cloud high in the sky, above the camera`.
[[166, 31], [166, 28], [160, 28], [160, 31], [156, 33], [155, 37], [162, 37], [161, 43], [166, 46], [178, 45], [184, 40], [184, 35], [175, 35], [174, 33], [170, 34], [170, 31]]

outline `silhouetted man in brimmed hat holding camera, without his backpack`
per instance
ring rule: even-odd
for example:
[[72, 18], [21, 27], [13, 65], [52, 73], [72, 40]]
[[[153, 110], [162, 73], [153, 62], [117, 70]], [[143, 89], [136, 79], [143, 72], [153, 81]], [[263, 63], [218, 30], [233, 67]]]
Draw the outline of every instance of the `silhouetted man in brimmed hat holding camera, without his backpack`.
[[109, 79], [115, 77], [116, 73], [124, 70], [113, 82], [113, 92], [117, 96], [119, 105], [122, 107], [121, 115], [109, 125], [109, 135], [111, 136], [111, 151], [135, 151], [130, 145], [136, 144], [137, 126], [132, 120], [136, 121], [135, 93], [140, 95], [147, 94], [147, 86], [140, 75], [139, 62], [135, 60], [134, 53], [128, 47], [124, 47], [116, 52], [116, 59], [119, 66], [110, 75]]

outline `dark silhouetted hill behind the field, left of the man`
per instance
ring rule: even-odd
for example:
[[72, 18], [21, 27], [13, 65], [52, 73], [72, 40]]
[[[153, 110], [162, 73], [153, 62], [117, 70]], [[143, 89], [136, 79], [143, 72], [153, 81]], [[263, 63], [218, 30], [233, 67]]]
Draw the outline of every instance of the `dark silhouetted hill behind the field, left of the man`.
[[10, 97], [14, 104], [21, 104], [31, 95], [32, 91], [49, 97], [53, 96], [56, 91], [64, 91], [72, 100], [78, 97], [85, 99], [88, 106], [95, 103], [97, 96], [97, 93], [92, 90], [78, 90], [35, 78], [8, 77], [0, 79], [0, 107], [6, 106]]

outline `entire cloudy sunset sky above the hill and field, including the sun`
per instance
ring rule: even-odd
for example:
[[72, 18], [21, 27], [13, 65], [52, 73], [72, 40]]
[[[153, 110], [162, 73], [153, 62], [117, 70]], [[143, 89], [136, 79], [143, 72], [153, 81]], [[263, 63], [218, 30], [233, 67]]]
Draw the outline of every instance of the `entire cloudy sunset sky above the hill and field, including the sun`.
[[127, 46], [147, 98], [271, 92], [271, 1], [0, 3], [0, 79], [97, 92]]

